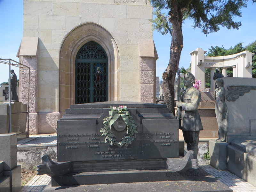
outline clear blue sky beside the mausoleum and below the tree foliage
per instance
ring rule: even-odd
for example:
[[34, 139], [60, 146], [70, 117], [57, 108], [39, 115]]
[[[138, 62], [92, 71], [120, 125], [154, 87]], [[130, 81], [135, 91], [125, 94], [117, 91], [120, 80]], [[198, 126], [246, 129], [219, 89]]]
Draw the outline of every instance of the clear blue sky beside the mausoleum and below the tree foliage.
[[[246, 46], [256, 40], [256, 3], [249, 0], [247, 8], [242, 9], [242, 17], [235, 19], [241, 21], [239, 30], [221, 28], [219, 32], [202, 34], [201, 29], [193, 29], [193, 22], [185, 20], [182, 26], [184, 47], [181, 52], [180, 67], [189, 67], [190, 52], [200, 47], [208, 50], [211, 46], [234, 47], [242, 42]], [[23, 36], [23, 0], [0, 0], [0, 58], [17, 60], [20, 42]], [[162, 73], [168, 65], [170, 58], [171, 36], [162, 36], [157, 31], [153, 38], [159, 59], [156, 61], [156, 76], [162, 78]], [[18, 68], [12, 67], [17, 76]], [[0, 64], [0, 83], [8, 81], [8, 65]]]

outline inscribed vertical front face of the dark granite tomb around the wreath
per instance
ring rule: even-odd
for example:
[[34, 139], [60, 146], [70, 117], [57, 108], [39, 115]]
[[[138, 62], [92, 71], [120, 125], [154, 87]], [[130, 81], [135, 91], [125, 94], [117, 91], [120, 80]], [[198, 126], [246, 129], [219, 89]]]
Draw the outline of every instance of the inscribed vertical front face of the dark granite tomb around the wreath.
[[97, 125], [96, 120], [58, 121], [58, 162], [179, 156], [177, 120], [143, 119], [142, 122], [132, 144], [119, 148], [105, 143], [105, 136], [100, 133], [102, 125]]

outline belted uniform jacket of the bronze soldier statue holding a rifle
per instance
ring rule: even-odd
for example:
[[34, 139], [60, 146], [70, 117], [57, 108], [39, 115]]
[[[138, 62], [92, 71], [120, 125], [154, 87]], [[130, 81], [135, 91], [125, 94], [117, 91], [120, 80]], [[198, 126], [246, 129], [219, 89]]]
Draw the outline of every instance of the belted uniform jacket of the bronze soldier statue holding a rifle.
[[197, 111], [201, 93], [195, 87], [188, 87], [181, 94], [182, 111], [181, 111], [181, 127], [183, 131], [201, 131], [203, 125]]

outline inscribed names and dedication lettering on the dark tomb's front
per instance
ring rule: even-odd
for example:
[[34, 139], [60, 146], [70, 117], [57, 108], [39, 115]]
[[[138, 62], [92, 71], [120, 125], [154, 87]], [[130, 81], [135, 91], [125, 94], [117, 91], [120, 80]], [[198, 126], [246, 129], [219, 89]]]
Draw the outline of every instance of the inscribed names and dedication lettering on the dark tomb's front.
[[[115, 131], [121, 133], [126, 131], [127, 125], [125, 124], [124, 120], [120, 118], [116, 120], [115, 124], [113, 124], [113, 128], [115, 129]], [[63, 149], [69, 151], [70, 149], [77, 149], [77, 151], [82, 151], [85, 150], [84, 147], [86, 147], [86, 150], [91, 151], [97, 159], [129, 157], [138, 158], [140, 156], [144, 156], [143, 154], [148, 153], [148, 150], [150, 150], [150, 148], [154, 145], [159, 147], [173, 147], [171, 143], [178, 142], [178, 140], [173, 140], [175, 138], [173, 132], [140, 132], [138, 133], [138, 136], [134, 140], [134, 142], [137, 143], [138, 146], [142, 147], [141, 149], [143, 149], [144, 151], [137, 151], [132, 150], [132, 148], [129, 147], [109, 147], [104, 149], [105, 141], [100, 141], [101, 133], [95, 132], [85, 132], [82, 134], [81, 132], [73, 132], [72, 134], [59, 134], [58, 138], [58, 145], [62, 146]]]

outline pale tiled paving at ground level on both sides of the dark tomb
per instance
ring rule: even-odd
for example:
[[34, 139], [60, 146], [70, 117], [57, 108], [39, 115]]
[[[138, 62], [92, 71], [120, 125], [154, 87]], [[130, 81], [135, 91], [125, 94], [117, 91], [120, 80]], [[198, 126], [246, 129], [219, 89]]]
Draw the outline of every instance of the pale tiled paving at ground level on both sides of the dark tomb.
[[[17, 142], [17, 147], [26, 146], [57, 146], [57, 134], [31, 135], [29, 138]], [[234, 192], [256, 192], [256, 187], [237, 177], [229, 171], [218, 171], [211, 165], [199, 165], [206, 172], [225, 183]], [[48, 175], [35, 175], [20, 192], [41, 192], [51, 181]], [[160, 190], [159, 190], [160, 191]]]

